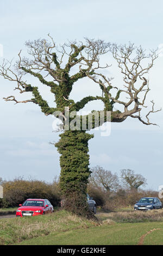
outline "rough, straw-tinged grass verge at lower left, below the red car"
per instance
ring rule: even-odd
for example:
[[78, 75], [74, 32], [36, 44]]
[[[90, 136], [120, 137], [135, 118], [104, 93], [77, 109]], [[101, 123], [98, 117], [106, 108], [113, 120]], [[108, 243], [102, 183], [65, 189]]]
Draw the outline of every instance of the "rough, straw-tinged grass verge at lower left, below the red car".
[[97, 223], [84, 220], [66, 211], [53, 214], [0, 220], [0, 245], [11, 245], [34, 237], [43, 237], [56, 232], [89, 228]]

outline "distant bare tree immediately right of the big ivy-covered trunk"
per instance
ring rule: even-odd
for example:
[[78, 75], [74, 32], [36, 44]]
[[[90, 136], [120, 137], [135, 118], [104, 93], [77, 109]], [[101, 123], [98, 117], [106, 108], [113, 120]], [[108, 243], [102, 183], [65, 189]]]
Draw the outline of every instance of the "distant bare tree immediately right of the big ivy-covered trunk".
[[93, 186], [97, 188], [101, 187], [107, 192], [117, 191], [117, 189], [120, 188], [118, 176], [116, 174], [112, 174], [110, 170], [105, 170], [100, 166], [91, 168], [89, 181]]

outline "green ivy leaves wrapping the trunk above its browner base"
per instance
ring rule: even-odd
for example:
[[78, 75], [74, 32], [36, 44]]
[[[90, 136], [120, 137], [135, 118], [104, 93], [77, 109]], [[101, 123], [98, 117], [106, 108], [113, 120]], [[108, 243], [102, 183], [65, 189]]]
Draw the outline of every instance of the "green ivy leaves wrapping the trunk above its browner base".
[[[55, 143], [60, 153], [60, 188], [66, 194], [67, 189], [77, 188], [79, 193], [81, 184], [86, 185], [90, 175], [88, 141], [93, 138], [85, 131], [65, 131], [60, 140]], [[83, 190], [83, 188], [82, 188]]]

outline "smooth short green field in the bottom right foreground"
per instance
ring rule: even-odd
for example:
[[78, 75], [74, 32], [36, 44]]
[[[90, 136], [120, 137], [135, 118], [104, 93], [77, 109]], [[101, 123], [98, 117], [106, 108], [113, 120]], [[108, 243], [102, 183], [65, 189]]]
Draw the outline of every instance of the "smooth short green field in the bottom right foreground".
[[143, 244], [163, 244], [163, 223], [116, 223], [99, 227], [56, 232], [35, 239], [24, 240], [21, 245], [137, 245], [141, 236], [151, 229], [157, 229], [145, 237]]

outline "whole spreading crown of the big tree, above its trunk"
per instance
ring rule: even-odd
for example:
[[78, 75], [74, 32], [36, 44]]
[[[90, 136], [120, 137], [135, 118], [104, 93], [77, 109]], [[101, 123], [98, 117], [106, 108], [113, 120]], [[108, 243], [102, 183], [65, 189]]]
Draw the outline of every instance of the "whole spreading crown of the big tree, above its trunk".
[[[51, 92], [55, 94], [55, 101], [59, 106], [74, 106], [79, 110], [79, 106], [84, 107], [89, 101], [100, 99], [104, 102], [105, 110], [112, 112], [112, 121], [123, 121], [127, 117], [131, 117], [139, 119], [146, 125], [153, 124], [149, 121], [149, 114], [161, 109], [155, 110], [154, 101], [152, 100], [152, 109], [146, 114], [146, 120], [141, 117], [141, 110], [142, 107], [147, 107], [146, 98], [150, 89], [146, 75], [158, 57], [156, 51], [151, 50], [149, 54], [146, 54], [141, 46], [135, 47], [131, 43], [117, 45], [110, 44], [110, 42], [105, 43], [103, 40], [87, 38], [85, 38], [85, 44], [83, 42], [69, 42], [58, 48], [55, 46], [52, 36], [49, 34], [48, 36], [51, 42], [46, 39], [26, 42], [29, 58], [21, 57], [20, 51], [14, 66], [12, 66], [12, 61], [9, 62], [8, 60], [4, 60], [0, 65], [0, 76], [16, 82], [15, 90], [18, 90], [21, 94], [33, 92], [34, 87], [24, 80], [26, 74], [30, 74], [37, 77], [42, 84], [51, 87]], [[100, 60], [101, 56], [106, 53], [111, 53], [118, 64], [118, 68], [120, 68], [123, 75], [123, 88], [113, 86], [113, 78], [105, 76], [111, 65], [105, 64], [102, 66]], [[67, 59], [65, 60], [65, 58]], [[75, 65], [78, 72], [70, 75], [70, 71]], [[49, 77], [48, 80], [46, 77]], [[69, 99], [73, 83], [83, 77], [88, 77], [99, 84], [102, 89], [102, 96], [88, 96], [80, 102], [74, 103], [73, 100]], [[116, 95], [112, 95], [112, 92], [116, 92]], [[121, 96], [126, 96], [126, 100], [122, 100]], [[5, 97], [4, 100], [15, 101], [16, 103], [34, 102], [40, 106], [44, 102], [41, 95], [39, 95], [41, 103], [36, 98], [17, 101], [15, 96]], [[123, 106], [124, 111], [113, 111], [115, 103]], [[139, 114], [134, 115], [136, 113]], [[45, 114], [48, 114], [48, 112]]]

